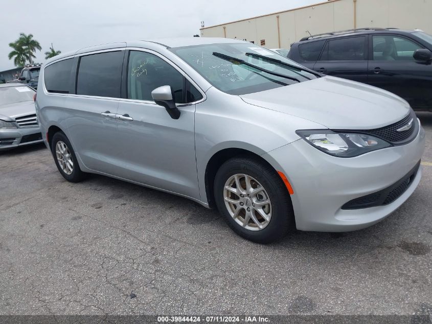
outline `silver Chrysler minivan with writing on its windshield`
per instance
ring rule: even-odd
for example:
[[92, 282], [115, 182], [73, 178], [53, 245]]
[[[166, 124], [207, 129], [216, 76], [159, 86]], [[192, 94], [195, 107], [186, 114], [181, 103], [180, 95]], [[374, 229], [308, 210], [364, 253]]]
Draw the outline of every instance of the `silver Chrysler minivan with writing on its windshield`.
[[[246, 41], [128, 41], [56, 56], [36, 111], [60, 174], [217, 207], [248, 240], [384, 219], [421, 178], [410, 105]], [[187, 211], [186, 211], [187, 212]]]

